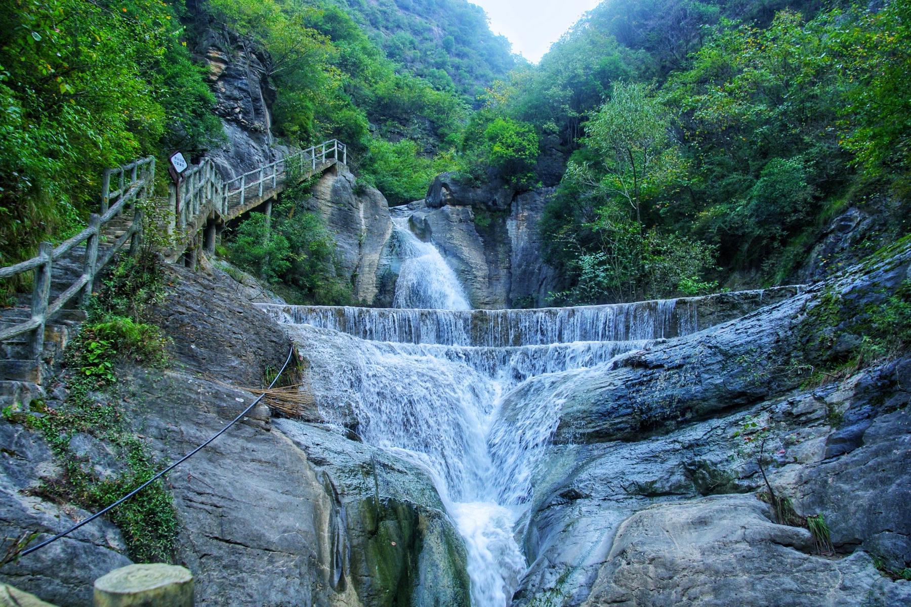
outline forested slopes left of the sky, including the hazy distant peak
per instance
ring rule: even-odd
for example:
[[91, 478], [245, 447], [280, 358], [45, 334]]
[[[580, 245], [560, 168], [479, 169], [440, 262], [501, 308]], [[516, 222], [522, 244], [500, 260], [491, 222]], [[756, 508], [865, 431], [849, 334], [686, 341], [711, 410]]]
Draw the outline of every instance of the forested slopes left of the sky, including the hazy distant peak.
[[282, 142], [339, 137], [365, 182], [394, 201], [422, 197], [476, 90], [513, 59], [466, 2], [355, 4], [15, 0], [0, 15], [0, 259], [81, 228], [104, 167], [224, 143], [189, 52], [200, 15], [269, 57]]

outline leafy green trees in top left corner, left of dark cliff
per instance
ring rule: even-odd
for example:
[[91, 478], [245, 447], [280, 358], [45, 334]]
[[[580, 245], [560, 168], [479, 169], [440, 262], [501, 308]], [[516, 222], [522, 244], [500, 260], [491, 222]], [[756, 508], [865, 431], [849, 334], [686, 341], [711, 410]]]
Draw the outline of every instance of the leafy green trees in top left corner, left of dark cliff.
[[220, 135], [181, 11], [15, 0], [0, 14], [0, 263], [81, 228], [103, 168]]

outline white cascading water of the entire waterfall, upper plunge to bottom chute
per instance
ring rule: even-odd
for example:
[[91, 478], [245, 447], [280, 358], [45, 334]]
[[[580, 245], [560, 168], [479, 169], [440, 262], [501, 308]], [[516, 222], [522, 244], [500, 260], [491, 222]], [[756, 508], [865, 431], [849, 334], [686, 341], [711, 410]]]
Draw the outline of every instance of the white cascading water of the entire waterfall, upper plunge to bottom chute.
[[[695, 308], [469, 310], [445, 259], [395, 221], [398, 309], [262, 309], [291, 325], [327, 420], [348, 402], [364, 442], [427, 470], [465, 539], [472, 603], [504, 607], [527, 568], [515, 526], [563, 402], [551, 379], [692, 332]], [[518, 413], [501, 415], [510, 395]]]

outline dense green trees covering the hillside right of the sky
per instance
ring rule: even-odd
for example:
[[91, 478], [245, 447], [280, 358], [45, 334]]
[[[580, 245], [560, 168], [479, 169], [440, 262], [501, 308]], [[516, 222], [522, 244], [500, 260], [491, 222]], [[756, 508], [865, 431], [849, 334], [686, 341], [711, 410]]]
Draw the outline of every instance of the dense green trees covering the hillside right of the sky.
[[456, 162], [479, 175], [475, 125], [500, 119], [562, 159], [542, 222], [558, 300], [780, 281], [845, 207], [906, 207], [909, 24], [901, 1], [604, 2], [492, 87]]

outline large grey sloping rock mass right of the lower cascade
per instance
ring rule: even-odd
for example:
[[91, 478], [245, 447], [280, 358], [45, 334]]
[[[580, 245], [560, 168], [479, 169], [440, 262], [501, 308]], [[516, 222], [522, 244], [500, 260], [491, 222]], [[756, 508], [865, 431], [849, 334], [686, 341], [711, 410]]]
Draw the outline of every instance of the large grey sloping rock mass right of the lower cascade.
[[[793, 362], [824, 333], [825, 301], [882, 301], [909, 271], [906, 247], [743, 319], [532, 380], [507, 400], [563, 402], [533, 481], [522, 531], [532, 565], [513, 604], [911, 602], [911, 585], [872, 560], [893, 571], [911, 561], [911, 357], [817, 388], [802, 388]], [[742, 494], [764, 489], [743, 454], [747, 421], [769, 431], [774, 491], [800, 516], [824, 514], [834, 557]]]

